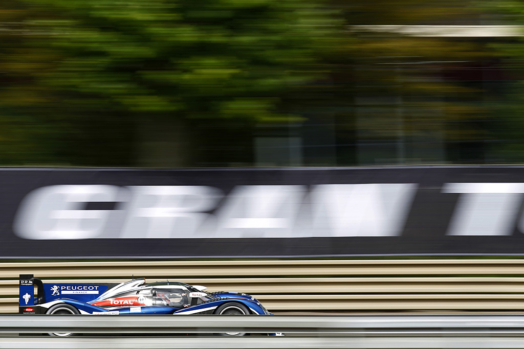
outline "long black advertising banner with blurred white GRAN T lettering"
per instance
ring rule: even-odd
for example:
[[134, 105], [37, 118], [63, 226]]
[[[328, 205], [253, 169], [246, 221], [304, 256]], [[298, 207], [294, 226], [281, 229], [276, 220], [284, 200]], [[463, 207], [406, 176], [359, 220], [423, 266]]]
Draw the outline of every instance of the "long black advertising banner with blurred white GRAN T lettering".
[[524, 167], [0, 170], [0, 257], [524, 254]]

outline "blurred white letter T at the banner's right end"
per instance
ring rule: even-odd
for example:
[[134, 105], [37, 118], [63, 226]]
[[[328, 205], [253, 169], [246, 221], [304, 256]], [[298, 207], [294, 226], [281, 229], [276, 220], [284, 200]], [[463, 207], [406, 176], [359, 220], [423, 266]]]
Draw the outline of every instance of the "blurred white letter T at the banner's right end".
[[462, 194], [447, 235], [511, 235], [524, 183], [446, 183], [442, 193]]

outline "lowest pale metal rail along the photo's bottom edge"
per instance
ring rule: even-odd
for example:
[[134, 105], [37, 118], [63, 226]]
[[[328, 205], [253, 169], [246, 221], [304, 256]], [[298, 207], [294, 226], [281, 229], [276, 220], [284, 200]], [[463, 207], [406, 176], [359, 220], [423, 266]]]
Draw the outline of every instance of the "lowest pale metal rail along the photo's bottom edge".
[[195, 337], [2, 338], [3, 349], [522, 349], [521, 338], [498, 337]]

